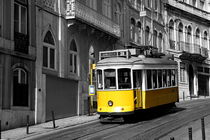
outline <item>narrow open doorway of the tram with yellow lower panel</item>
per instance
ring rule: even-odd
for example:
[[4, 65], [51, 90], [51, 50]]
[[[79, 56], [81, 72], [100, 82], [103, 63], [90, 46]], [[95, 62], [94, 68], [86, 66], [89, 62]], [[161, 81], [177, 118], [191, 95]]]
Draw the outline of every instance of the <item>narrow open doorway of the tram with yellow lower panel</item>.
[[142, 107], [142, 71], [133, 70], [133, 88], [135, 108]]

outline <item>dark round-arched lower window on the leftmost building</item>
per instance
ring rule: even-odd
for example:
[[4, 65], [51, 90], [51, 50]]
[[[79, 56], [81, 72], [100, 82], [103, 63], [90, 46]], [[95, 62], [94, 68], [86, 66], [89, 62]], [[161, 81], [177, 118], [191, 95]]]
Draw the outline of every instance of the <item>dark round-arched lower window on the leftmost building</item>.
[[13, 70], [13, 106], [27, 107], [29, 105], [28, 75], [22, 68]]

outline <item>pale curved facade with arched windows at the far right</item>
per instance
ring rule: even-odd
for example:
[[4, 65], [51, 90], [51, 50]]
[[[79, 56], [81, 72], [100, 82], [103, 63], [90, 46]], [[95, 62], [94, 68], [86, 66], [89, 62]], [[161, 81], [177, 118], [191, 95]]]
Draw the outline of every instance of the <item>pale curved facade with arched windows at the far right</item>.
[[180, 98], [209, 96], [209, 0], [164, 3], [165, 46], [178, 62]]

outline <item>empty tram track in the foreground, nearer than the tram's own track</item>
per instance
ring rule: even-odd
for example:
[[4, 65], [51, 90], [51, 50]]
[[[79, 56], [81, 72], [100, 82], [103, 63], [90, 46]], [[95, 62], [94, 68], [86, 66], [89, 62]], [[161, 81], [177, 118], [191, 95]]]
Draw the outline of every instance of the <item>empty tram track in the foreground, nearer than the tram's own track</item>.
[[[150, 137], [151, 139], [154, 138], [160, 138], [163, 135], [166, 135], [167, 133], [170, 133], [171, 131], [174, 131], [191, 121], [197, 120], [205, 115], [208, 115], [206, 112], [207, 110], [203, 108], [202, 106], [197, 106], [202, 103], [202, 106], [205, 106], [208, 104], [208, 102], [195, 102], [191, 106], [185, 104], [184, 106], [181, 106], [182, 108], [187, 108], [184, 110], [181, 114], [177, 114], [174, 116], [169, 116], [170, 113], [166, 116], [163, 116], [161, 118], [154, 118], [154, 120], [148, 120], [144, 122], [138, 122], [136, 124], [128, 124], [124, 125], [121, 129], [118, 129], [116, 131], [110, 130], [112, 133], [107, 132], [104, 134], [95, 133], [92, 136], [85, 136], [81, 139], [129, 139], [130, 137], [132, 139], [148, 139]], [[204, 103], [204, 104], [203, 104]], [[198, 112], [192, 113], [193, 109], [199, 109]], [[188, 111], [190, 110], [190, 111]], [[190, 119], [186, 119], [186, 115], [190, 113], [193, 117]], [[197, 115], [199, 113], [199, 115]], [[196, 116], [196, 117], [195, 117]], [[164, 119], [167, 119], [167, 121], [164, 121]], [[179, 125], [178, 125], [179, 124]], [[120, 128], [120, 127], [118, 127]], [[147, 129], [146, 129], [147, 128]], [[163, 128], [169, 128], [168, 130]], [[146, 130], [145, 130], [146, 129]], [[119, 133], [121, 132], [121, 133]], [[157, 134], [158, 132], [158, 134]]]

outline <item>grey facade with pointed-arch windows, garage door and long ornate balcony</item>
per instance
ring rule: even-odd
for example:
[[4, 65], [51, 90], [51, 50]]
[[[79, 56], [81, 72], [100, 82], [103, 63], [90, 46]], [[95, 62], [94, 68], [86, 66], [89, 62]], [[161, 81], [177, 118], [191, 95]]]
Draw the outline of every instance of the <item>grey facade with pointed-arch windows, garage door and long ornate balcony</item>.
[[52, 111], [56, 119], [88, 113], [90, 65], [120, 38], [113, 5], [36, 0], [36, 123], [51, 120]]

